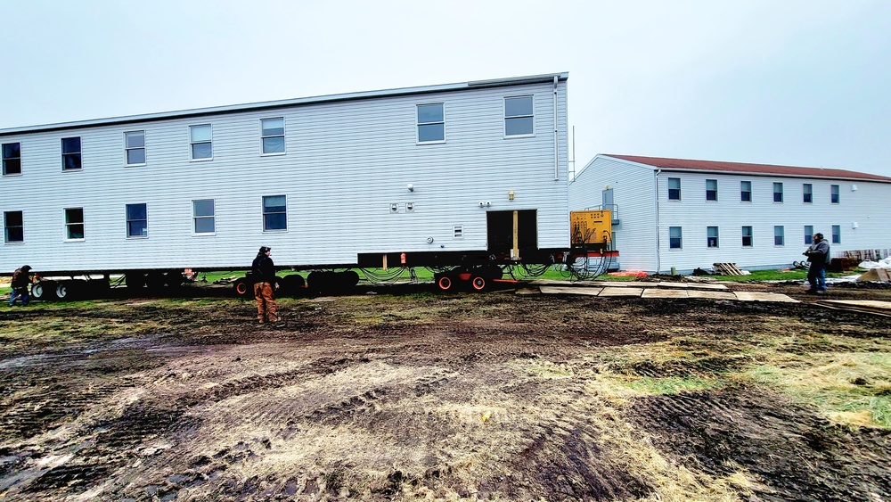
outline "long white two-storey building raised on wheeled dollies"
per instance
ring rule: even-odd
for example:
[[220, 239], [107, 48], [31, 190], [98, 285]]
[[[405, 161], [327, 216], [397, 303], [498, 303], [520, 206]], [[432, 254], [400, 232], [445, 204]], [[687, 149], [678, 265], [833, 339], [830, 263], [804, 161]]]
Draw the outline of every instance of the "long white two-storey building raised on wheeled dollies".
[[385, 257], [444, 272], [543, 264], [570, 242], [567, 79], [2, 129], [0, 270], [59, 278], [36, 284], [52, 297], [243, 269], [260, 245], [318, 280]]

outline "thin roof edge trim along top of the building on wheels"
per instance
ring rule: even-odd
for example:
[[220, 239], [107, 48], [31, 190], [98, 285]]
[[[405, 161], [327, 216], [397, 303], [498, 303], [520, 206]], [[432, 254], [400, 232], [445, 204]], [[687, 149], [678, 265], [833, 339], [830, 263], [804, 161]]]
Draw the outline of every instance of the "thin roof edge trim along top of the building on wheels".
[[401, 87], [396, 89], [384, 89], [379, 91], [364, 91], [358, 93], [347, 93], [341, 95], [321, 95], [303, 98], [286, 99], [279, 101], [266, 101], [259, 103], [233, 104], [227, 106], [214, 106], [209, 108], [195, 108], [191, 110], [181, 111], [163, 111], [160, 113], [145, 113], [141, 115], [126, 115], [122, 117], [110, 117], [106, 119], [90, 119], [78, 120], [74, 122], [60, 122], [56, 124], [45, 124], [40, 126], [28, 126], [23, 128], [6, 128], [0, 129], [0, 136], [12, 136], [18, 134], [28, 134], [36, 132], [56, 131], [62, 129], [74, 128], [96, 128], [100, 126], [130, 124], [134, 122], [152, 122], [166, 119], [184, 119], [189, 117], [200, 117], [219, 115], [222, 113], [231, 113], [233, 111], [257, 111], [271, 110], [276, 108], [284, 108], [288, 106], [298, 106], [303, 104], [316, 103], [332, 103], [339, 101], [353, 101], [360, 99], [372, 99], [379, 97], [391, 97], [400, 95], [421, 95], [429, 93], [440, 93], [449, 91], [460, 91], [462, 89], [480, 88], [480, 87], [500, 87], [500, 86], [521, 86], [525, 84], [540, 84], [544, 82], [552, 82], [554, 77], [560, 80], [569, 78], [567, 72], [548, 73], [544, 75], [533, 75], [529, 77], [514, 78], [498, 78], [493, 80], [474, 80], [470, 82], [457, 84], [442, 84], [438, 86], [418, 86], [418, 87]]

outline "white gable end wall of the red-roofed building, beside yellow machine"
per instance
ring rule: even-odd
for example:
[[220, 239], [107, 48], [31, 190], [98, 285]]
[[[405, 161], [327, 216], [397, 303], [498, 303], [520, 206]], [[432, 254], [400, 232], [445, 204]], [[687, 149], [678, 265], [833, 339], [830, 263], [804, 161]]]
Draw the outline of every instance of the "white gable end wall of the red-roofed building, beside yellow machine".
[[[569, 184], [569, 210], [600, 206], [602, 192], [613, 189], [619, 223], [613, 248], [623, 270], [656, 270], [656, 177], [649, 167], [598, 156]], [[615, 219], [615, 216], [614, 216]]]

